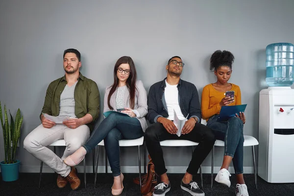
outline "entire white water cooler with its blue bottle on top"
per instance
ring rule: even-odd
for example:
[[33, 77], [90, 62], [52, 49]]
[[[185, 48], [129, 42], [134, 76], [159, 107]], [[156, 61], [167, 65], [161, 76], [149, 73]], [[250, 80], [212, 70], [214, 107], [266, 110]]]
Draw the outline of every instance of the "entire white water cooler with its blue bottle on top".
[[294, 182], [294, 45], [266, 48], [268, 89], [259, 93], [258, 175], [270, 183]]

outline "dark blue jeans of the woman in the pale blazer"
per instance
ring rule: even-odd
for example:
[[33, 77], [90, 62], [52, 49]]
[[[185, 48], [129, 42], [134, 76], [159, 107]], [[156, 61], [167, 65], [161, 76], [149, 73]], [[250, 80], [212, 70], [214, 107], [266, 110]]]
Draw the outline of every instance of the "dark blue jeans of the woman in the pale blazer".
[[112, 113], [94, 129], [83, 147], [88, 153], [104, 139], [112, 175], [119, 176], [121, 174], [119, 140], [133, 140], [142, 136], [143, 130], [138, 119]]

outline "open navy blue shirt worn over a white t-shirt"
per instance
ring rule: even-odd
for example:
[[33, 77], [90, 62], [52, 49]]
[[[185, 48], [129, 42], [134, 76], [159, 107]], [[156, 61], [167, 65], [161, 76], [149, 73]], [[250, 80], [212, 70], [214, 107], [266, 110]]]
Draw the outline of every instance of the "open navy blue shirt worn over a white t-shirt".
[[[148, 113], [147, 120], [152, 124], [156, 123], [158, 117], [168, 118], [168, 107], [164, 98], [164, 90], [166, 87], [164, 80], [153, 84], [148, 93]], [[182, 114], [188, 116], [188, 119], [196, 117], [200, 122], [201, 109], [196, 86], [191, 82], [180, 79], [177, 85], [178, 88], [178, 101]]]

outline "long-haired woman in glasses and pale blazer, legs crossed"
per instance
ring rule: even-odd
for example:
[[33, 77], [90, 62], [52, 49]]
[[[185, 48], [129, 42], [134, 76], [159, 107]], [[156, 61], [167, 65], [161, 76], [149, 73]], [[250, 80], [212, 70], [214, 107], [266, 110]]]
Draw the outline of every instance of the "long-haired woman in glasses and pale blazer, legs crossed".
[[147, 92], [142, 81], [136, 79], [136, 68], [131, 57], [121, 57], [114, 67], [114, 82], [106, 88], [104, 95], [103, 114], [107, 117], [94, 129], [86, 144], [64, 160], [65, 164], [75, 166], [104, 140], [114, 176], [111, 188], [114, 196], [119, 196], [123, 192], [119, 140], [140, 138], [147, 128], [144, 118], [147, 114]]

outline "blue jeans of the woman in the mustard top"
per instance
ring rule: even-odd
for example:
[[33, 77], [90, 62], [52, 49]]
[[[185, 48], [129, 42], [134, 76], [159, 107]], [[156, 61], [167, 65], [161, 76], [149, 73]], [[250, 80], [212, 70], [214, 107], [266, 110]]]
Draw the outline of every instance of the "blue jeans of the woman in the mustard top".
[[243, 122], [237, 117], [231, 117], [227, 122], [217, 122], [219, 115], [207, 121], [217, 140], [224, 141], [224, 156], [233, 157], [235, 173], [243, 173]]

